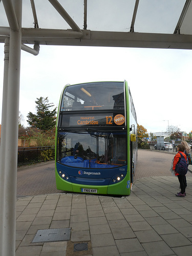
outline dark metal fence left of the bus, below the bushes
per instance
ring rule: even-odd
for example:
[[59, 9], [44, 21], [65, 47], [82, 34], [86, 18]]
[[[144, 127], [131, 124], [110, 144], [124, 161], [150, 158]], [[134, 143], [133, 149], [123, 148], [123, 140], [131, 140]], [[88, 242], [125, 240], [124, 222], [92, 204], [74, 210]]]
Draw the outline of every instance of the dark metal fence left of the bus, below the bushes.
[[55, 159], [55, 146], [18, 147], [17, 165]]

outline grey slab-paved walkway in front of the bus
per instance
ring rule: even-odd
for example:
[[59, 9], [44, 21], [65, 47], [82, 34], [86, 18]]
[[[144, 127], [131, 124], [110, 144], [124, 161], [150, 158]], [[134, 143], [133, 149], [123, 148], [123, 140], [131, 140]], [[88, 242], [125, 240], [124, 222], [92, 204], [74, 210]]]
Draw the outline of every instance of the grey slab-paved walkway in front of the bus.
[[[121, 198], [84, 194], [19, 198], [16, 255], [191, 255], [191, 176], [187, 196], [177, 198], [178, 191], [176, 177], [154, 176], [139, 178], [131, 195]], [[33, 242], [37, 230], [48, 231], [52, 240], [60, 228], [69, 230], [69, 240]]]

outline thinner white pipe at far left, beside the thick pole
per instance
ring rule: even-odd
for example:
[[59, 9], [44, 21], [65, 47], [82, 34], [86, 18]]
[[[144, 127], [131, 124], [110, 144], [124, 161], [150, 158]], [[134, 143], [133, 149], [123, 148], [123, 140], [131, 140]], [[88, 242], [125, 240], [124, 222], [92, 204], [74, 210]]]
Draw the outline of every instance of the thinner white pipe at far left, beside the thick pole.
[[6, 149], [6, 119], [7, 119], [7, 94], [8, 94], [8, 71], [9, 71], [9, 38], [5, 39], [4, 46], [4, 81], [2, 102], [2, 130], [0, 145], [0, 255], [3, 248], [3, 216], [4, 216], [4, 182], [5, 182], [5, 149]]

